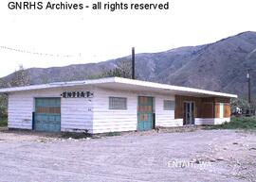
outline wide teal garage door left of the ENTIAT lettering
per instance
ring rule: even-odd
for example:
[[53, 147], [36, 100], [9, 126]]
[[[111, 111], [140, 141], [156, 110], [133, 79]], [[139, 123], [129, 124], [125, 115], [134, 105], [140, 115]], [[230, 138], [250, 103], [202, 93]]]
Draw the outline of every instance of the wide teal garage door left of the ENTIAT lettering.
[[36, 131], [61, 131], [61, 99], [36, 98], [34, 129]]

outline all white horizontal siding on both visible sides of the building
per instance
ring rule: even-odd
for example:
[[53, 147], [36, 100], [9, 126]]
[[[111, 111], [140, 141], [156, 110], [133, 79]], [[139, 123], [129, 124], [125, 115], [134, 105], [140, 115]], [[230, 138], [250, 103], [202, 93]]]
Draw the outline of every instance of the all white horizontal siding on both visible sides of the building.
[[[70, 87], [41, 91], [20, 91], [9, 94], [9, 127], [32, 128], [34, 98], [60, 97], [63, 91], [93, 91], [94, 98], [62, 98], [62, 131], [89, 130], [90, 133], [137, 130], [138, 96], [154, 97], [155, 126], [182, 126], [182, 119], [174, 119], [174, 110], [164, 110], [164, 100], [173, 100], [174, 95], [151, 92], [105, 90], [100, 88]], [[109, 109], [109, 97], [127, 98], [127, 109]], [[222, 124], [224, 119], [195, 119], [195, 124]]]

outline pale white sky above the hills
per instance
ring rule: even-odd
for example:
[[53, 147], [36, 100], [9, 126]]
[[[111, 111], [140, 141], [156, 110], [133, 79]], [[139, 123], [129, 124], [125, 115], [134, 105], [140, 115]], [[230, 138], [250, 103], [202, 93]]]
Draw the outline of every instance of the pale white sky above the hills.
[[[133, 46], [137, 53], [154, 53], [256, 31], [255, 0], [116, 1], [169, 2], [170, 9], [16, 10], [8, 8], [9, 0], [1, 0], [0, 77], [21, 64], [25, 68], [46, 68], [100, 62], [128, 56]], [[91, 6], [97, 1], [63, 2]]]

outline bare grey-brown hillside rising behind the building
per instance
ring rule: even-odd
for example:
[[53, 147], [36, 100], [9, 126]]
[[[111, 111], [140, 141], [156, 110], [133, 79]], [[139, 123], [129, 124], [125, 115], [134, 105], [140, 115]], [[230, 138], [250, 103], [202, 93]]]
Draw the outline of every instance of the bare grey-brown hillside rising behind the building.
[[[31, 84], [82, 80], [113, 69], [117, 58], [100, 63], [54, 68], [31, 68]], [[138, 79], [211, 91], [247, 95], [247, 68], [251, 68], [256, 97], [256, 32], [244, 32], [214, 43], [181, 47], [160, 53], [137, 54]], [[5, 77], [11, 78], [12, 74]], [[255, 78], [255, 79], [253, 79]]]

